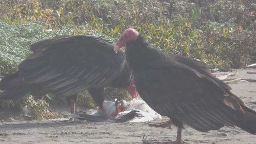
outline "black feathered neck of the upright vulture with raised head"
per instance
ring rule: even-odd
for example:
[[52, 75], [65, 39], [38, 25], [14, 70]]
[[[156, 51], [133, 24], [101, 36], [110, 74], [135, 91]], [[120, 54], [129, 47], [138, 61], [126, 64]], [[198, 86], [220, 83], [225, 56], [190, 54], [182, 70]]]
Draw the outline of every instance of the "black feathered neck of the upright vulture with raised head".
[[163, 52], [150, 46], [141, 35], [138, 36], [137, 40], [126, 44], [126, 59], [134, 73], [163, 56]]

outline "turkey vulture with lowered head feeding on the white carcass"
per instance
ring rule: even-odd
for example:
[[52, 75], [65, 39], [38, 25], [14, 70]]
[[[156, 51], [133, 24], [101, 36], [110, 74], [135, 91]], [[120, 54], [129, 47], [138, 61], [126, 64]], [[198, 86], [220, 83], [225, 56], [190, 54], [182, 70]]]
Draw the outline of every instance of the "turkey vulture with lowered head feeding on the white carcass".
[[0, 100], [52, 93], [70, 100], [74, 113], [77, 93], [86, 89], [103, 112], [104, 87], [126, 88], [137, 98], [125, 52], [116, 53], [113, 48], [110, 40], [89, 35], [36, 42], [30, 46], [33, 53], [18, 65], [18, 72], [1, 80]]

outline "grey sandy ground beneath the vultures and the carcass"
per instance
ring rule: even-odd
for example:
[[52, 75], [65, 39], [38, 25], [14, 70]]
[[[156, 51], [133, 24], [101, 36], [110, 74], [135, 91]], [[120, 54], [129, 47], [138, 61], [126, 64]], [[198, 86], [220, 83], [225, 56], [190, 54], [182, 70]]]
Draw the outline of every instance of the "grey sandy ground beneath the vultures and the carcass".
[[[255, 69], [236, 70], [238, 76], [256, 80]], [[240, 82], [230, 84], [233, 92], [240, 96], [246, 104], [256, 110], [256, 83]], [[69, 107], [54, 108], [57, 112], [68, 112]], [[11, 117], [20, 115], [16, 110], [0, 110], [0, 144], [142, 144], [143, 135], [147, 135], [150, 143], [176, 139], [175, 126], [168, 128], [152, 128], [141, 123], [88, 122], [70, 120], [18, 120], [8, 122]], [[154, 120], [151, 123], [168, 120]], [[182, 132], [183, 139], [189, 144], [256, 144], [256, 136], [244, 132], [240, 128], [224, 127], [210, 132], [198, 132], [188, 126]], [[226, 136], [224, 136], [226, 135]]]

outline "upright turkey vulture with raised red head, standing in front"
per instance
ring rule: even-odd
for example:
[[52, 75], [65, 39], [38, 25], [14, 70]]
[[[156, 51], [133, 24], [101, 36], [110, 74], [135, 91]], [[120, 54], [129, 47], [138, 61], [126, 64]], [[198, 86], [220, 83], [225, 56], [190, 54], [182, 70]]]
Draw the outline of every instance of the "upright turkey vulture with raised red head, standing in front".
[[238, 126], [256, 134], [256, 112], [203, 65], [195, 64], [190, 58], [160, 52], [132, 28], [122, 33], [114, 50], [124, 45], [140, 96], [178, 127], [177, 139], [170, 143], [184, 142], [183, 124], [200, 132]]

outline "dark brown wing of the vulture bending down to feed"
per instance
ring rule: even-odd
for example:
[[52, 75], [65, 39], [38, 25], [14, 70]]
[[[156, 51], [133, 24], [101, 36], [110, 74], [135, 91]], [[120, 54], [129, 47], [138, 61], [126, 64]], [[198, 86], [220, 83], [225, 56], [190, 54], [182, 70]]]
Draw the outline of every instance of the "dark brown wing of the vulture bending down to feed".
[[110, 40], [96, 36], [58, 36], [31, 46], [33, 53], [19, 66], [24, 81], [53, 94], [70, 96], [110, 83], [124, 67], [124, 53], [116, 54]]

